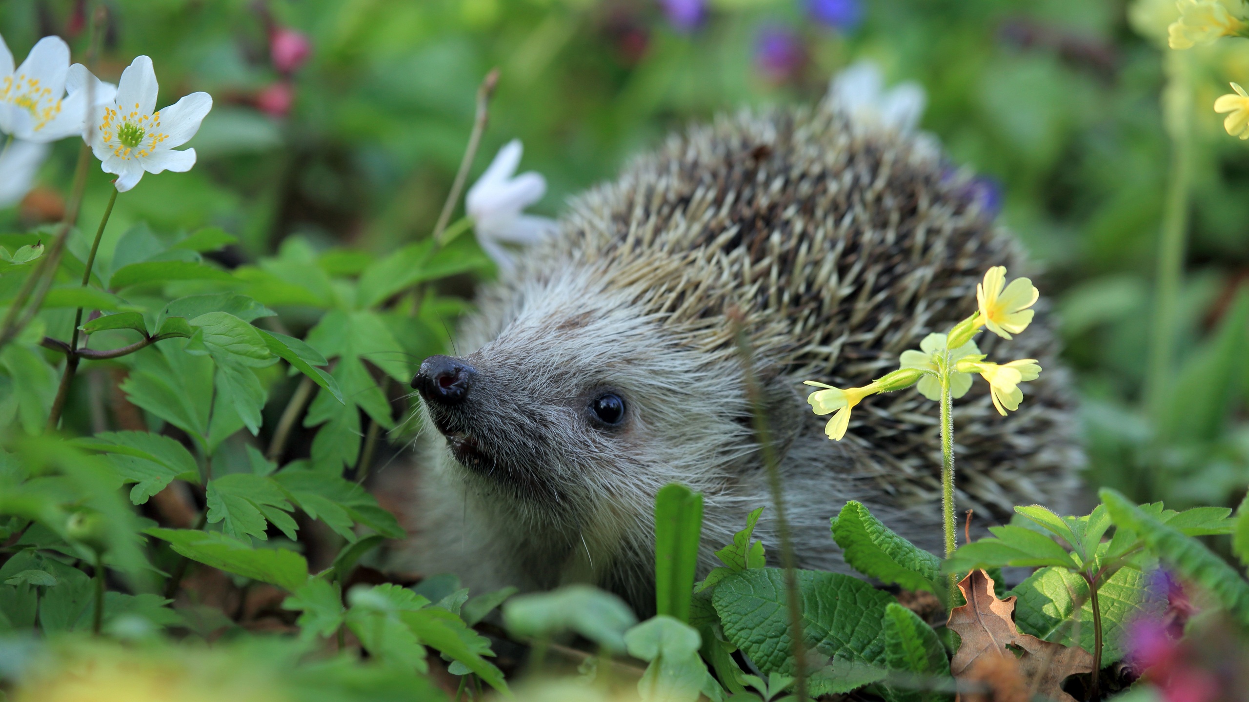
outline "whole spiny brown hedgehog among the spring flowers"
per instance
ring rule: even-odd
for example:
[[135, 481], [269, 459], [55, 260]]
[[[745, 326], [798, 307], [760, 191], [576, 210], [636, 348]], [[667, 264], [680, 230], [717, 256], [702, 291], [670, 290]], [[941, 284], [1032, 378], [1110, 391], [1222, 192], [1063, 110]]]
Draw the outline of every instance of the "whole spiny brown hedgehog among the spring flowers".
[[[475, 591], [588, 582], [653, 612], [653, 505], [671, 482], [703, 496], [701, 572], [757, 507], [778, 558], [738, 329], [798, 566], [853, 572], [829, 533], [849, 500], [939, 552], [937, 403], [874, 397], [832, 442], [802, 382], [866, 385], [974, 311], [989, 266], [1028, 272], [968, 192], [932, 137], [828, 97], [692, 126], [576, 197], [480, 291], [458, 355], [413, 377], [436, 431], [410, 562]], [[979, 383], [955, 405], [957, 503], [980, 526], [1013, 505], [1063, 511], [1078, 488], [1070, 383], [1037, 309], [1014, 341], [978, 339], [990, 360], [1045, 368], [1019, 411], [999, 416]]]

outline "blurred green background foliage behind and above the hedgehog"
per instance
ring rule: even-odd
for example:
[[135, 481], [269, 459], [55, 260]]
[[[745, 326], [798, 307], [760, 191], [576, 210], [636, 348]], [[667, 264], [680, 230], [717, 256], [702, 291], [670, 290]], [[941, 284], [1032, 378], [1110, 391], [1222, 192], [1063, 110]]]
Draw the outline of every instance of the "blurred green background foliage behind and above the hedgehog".
[[[1190, 231], [1168, 410], [1142, 407], [1159, 221], [1172, 149], [1157, 36], [1170, 0], [117, 0], [95, 72], [152, 57], [159, 105], [209, 91], [197, 166], [119, 197], [107, 256], [132, 224], [219, 225], [227, 264], [292, 236], [385, 252], [427, 236], [463, 151], [481, 77], [501, 81], [473, 175], [512, 137], [550, 184], [535, 207], [612, 175], [673, 129], [721, 111], [812, 102], [837, 70], [876, 61], [928, 94], [922, 129], [984, 176], [1055, 300], [1083, 396], [1088, 483], [1169, 506], [1235, 505], [1249, 483], [1249, 147], [1210, 110], [1249, 82], [1249, 41], [1185, 52]], [[17, 60], [47, 34], [87, 44], [82, 0], [5, 0]], [[291, 34], [297, 32], [297, 34]], [[279, 41], [277, 37], [281, 37]], [[305, 46], [310, 52], [300, 60]], [[282, 44], [286, 42], [286, 44]], [[281, 44], [281, 46], [275, 46]], [[286, 51], [284, 54], [284, 51]], [[75, 140], [0, 229], [55, 221]], [[94, 165], [92, 167], [96, 167]], [[95, 170], [82, 222], [110, 176]]]

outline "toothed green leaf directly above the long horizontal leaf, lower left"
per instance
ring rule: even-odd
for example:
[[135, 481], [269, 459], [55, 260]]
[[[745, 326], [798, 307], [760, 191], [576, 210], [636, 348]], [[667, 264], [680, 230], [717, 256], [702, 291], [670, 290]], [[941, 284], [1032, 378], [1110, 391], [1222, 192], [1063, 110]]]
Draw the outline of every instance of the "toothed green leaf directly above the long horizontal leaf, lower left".
[[266, 518], [282, 530], [287, 538], [296, 538], [299, 526], [286, 513], [295, 507], [269, 477], [231, 473], [209, 481], [207, 507], [209, 523], [222, 522], [221, 530], [235, 538], [246, 541], [249, 536], [255, 536], [261, 541], [267, 540]]

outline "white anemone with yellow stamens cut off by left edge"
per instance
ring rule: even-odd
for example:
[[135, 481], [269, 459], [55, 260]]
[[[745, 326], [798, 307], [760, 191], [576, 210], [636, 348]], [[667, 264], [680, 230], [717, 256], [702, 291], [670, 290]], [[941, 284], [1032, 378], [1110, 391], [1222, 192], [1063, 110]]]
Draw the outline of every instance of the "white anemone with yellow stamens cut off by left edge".
[[89, 95], [99, 104], [112, 90], [81, 64], [70, 66], [70, 47], [59, 36], [40, 39], [16, 69], [0, 36], [0, 131], [12, 139], [45, 144], [81, 134]]

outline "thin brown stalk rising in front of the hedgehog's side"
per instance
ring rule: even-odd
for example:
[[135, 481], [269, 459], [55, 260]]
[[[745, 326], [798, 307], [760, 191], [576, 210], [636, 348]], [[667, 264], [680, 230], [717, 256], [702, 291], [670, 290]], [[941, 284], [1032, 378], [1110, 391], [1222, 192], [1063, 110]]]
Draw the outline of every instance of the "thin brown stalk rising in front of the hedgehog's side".
[[803, 638], [802, 627], [802, 600], [798, 591], [797, 560], [793, 556], [793, 540], [789, 533], [789, 522], [786, 518], [784, 498], [782, 496], [779, 457], [772, 443], [772, 433], [768, 427], [767, 408], [763, 403], [763, 393], [754, 375], [753, 353], [742, 315], [737, 310], [729, 312], [733, 325], [733, 336], [737, 341], [737, 351], [742, 357], [742, 370], [746, 380], [746, 395], [751, 400], [751, 410], [754, 416], [754, 433], [759, 440], [759, 450], [763, 455], [763, 465], [768, 473], [768, 488], [772, 492], [772, 507], [777, 513], [777, 536], [781, 540], [781, 567], [784, 568], [786, 600], [789, 608], [789, 638], [793, 642], [793, 675], [794, 700], [807, 702], [807, 642]]

